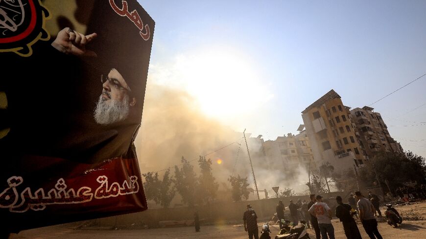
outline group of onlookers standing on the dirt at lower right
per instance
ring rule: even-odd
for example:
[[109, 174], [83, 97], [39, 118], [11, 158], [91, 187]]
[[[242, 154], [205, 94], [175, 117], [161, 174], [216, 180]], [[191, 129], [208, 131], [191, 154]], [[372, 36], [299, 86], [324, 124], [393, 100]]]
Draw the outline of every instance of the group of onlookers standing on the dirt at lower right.
[[[337, 206], [334, 214], [343, 224], [343, 229], [347, 239], [361, 239], [355, 218], [359, 218], [361, 224], [370, 239], [382, 239], [376, 217], [381, 217], [379, 210], [379, 197], [369, 192], [367, 198], [361, 192], [355, 192], [348, 198], [349, 204], [343, 203], [341, 196], [336, 196]], [[330, 206], [323, 201], [320, 195], [310, 195], [310, 201], [301, 201], [294, 203], [290, 200], [288, 205], [290, 219], [293, 225], [299, 224], [300, 220], [306, 222], [308, 228], [312, 227], [315, 231], [316, 239], [335, 239], [334, 227], [331, 224], [333, 211]], [[280, 222], [280, 228], [283, 227], [284, 204], [279, 201], [276, 206], [277, 217]], [[243, 216], [244, 229], [248, 233], [249, 239], [259, 239], [259, 230], [257, 225], [257, 215], [250, 204], [247, 205], [247, 211]]]

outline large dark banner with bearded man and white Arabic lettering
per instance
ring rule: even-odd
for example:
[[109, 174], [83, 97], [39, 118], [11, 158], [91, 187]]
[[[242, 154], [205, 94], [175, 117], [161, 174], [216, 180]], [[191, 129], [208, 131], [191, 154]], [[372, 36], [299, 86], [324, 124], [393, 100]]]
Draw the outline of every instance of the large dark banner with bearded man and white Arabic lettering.
[[133, 141], [154, 24], [136, 0], [0, 0], [5, 228], [147, 209]]

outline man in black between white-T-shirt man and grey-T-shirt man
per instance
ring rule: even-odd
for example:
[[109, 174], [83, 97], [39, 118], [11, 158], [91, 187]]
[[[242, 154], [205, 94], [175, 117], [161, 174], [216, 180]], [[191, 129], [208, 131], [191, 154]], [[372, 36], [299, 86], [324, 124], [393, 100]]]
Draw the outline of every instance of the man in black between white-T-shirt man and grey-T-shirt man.
[[339, 204], [336, 207], [336, 217], [338, 217], [343, 224], [343, 230], [345, 231], [346, 238], [362, 239], [354, 217], [352, 217], [352, 215], [355, 214], [355, 212], [351, 213], [352, 207], [349, 204], [344, 204], [341, 196], [336, 196], [336, 201], [337, 204]]

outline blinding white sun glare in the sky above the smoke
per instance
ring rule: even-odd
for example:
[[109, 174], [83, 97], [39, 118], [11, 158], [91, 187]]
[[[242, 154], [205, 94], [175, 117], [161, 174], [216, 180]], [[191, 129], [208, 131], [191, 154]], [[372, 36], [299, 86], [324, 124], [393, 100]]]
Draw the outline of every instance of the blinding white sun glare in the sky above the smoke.
[[250, 65], [242, 55], [200, 52], [177, 58], [173, 85], [184, 87], [207, 115], [218, 119], [236, 117], [272, 97], [256, 65]]

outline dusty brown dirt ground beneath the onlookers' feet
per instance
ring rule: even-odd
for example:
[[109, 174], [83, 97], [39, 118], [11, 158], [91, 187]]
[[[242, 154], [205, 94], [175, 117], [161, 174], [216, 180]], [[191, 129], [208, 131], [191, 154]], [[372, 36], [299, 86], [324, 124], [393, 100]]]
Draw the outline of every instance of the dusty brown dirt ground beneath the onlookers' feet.
[[[402, 217], [425, 217], [426, 202], [395, 207]], [[382, 213], [384, 207], [381, 207]], [[266, 220], [265, 220], [266, 221]], [[263, 224], [258, 220], [259, 225]], [[346, 239], [342, 223], [338, 219], [332, 220], [336, 239]], [[368, 239], [362, 225], [357, 221], [359, 231], [364, 239]], [[260, 228], [259, 227], [259, 228]], [[278, 232], [278, 226], [271, 226], [271, 238]], [[426, 239], [426, 220], [404, 220], [398, 228], [389, 226], [386, 222], [379, 223], [379, 232], [384, 239]], [[311, 239], [315, 233], [308, 229]], [[111, 230], [106, 228], [88, 227], [75, 229], [69, 224], [37, 228], [22, 231], [18, 235], [12, 235], [11, 239], [247, 239], [247, 233], [242, 225], [220, 224], [201, 225], [201, 232], [196, 233], [193, 227]]]

